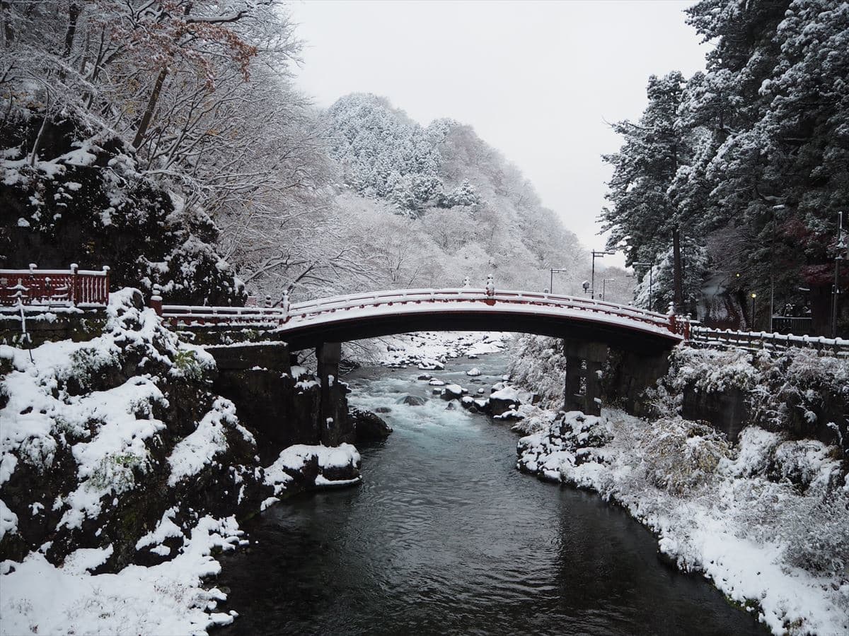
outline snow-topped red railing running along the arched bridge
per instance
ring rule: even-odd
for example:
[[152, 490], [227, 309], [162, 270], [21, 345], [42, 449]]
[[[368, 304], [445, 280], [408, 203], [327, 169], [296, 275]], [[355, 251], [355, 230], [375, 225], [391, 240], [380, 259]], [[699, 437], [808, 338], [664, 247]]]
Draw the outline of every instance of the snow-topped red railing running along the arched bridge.
[[[657, 330], [687, 337], [689, 321], [682, 316], [664, 315], [642, 310], [630, 305], [608, 303], [591, 298], [560, 296], [550, 293], [495, 291], [458, 287], [448, 289], [402, 289], [381, 292], [346, 294], [332, 298], [318, 298], [288, 305], [284, 298], [282, 307], [210, 307], [192, 305], [162, 305], [161, 314], [172, 325], [273, 326], [283, 329], [301, 326], [305, 322], [320, 321], [338, 311], [367, 310], [378, 307], [413, 304], [444, 304], [446, 310], [462, 309], [464, 303], [519, 304], [529, 308], [539, 307], [559, 310], [579, 310], [610, 318], [638, 322]], [[287, 306], [288, 305], [288, 306]], [[363, 315], [363, 317], [367, 317]]]

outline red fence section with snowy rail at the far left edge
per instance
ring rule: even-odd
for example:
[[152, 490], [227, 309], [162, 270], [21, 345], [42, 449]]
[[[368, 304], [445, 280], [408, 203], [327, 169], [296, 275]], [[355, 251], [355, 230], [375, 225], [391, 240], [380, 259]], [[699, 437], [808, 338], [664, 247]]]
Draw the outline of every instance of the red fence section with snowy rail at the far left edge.
[[102, 271], [0, 270], [0, 307], [102, 307], [109, 303], [109, 267]]

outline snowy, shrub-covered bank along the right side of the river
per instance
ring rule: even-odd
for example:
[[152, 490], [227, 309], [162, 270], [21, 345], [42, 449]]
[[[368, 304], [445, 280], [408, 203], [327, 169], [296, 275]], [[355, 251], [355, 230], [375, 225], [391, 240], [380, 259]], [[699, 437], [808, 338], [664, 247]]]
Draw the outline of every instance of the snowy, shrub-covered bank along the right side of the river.
[[[551, 387], [549, 404], [562, 386], [556, 365], [543, 366], [540, 382], [550, 350], [548, 339], [527, 338], [512, 368], [543, 392]], [[689, 360], [690, 375], [696, 362]], [[715, 384], [752, 375], [745, 360], [735, 362], [696, 375]], [[541, 411], [519, 425], [531, 435], [520, 440], [517, 466], [621, 504], [655, 533], [662, 555], [702, 573], [773, 633], [847, 633], [849, 477], [841, 450], [754, 426], [734, 444], [678, 416], [680, 402], [666, 389], [656, 397], [667, 414], [651, 420], [621, 410], [601, 418]]]

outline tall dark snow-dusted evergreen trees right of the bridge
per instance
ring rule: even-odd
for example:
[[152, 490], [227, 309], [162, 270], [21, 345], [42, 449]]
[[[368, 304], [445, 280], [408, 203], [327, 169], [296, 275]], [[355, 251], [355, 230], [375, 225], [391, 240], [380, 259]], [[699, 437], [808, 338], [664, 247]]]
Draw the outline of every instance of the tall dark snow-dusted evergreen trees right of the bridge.
[[687, 21], [711, 42], [707, 70], [653, 75], [642, 117], [616, 124], [609, 247], [655, 263], [661, 309], [678, 230], [683, 300], [701, 317], [737, 311], [751, 325], [755, 293], [765, 327], [774, 286], [777, 311], [808, 306], [826, 332], [838, 212], [849, 211], [849, 4], [701, 0]]

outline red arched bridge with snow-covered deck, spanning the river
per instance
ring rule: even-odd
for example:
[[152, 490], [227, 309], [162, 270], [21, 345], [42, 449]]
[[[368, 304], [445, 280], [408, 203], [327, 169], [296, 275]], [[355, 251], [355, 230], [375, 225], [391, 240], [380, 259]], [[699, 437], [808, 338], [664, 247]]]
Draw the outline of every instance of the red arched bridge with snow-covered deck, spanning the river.
[[416, 331], [502, 331], [657, 352], [689, 335], [689, 321], [627, 305], [548, 293], [402, 289], [319, 298], [280, 307], [154, 305], [175, 327], [273, 331], [291, 350]]

